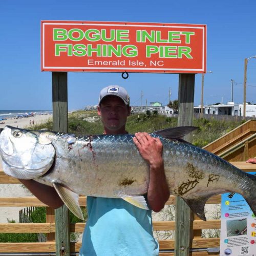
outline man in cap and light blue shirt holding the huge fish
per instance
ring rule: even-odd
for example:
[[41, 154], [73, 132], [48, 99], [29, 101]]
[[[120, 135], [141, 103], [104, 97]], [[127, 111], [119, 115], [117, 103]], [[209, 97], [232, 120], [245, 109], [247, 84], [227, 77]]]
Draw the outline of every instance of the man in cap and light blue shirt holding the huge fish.
[[[130, 99], [124, 88], [109, 86], [101, 90], [98, 115], [101, 116], [104, 134], [127, 134], [125, 124], [130, 113]], [[134, 143], [150, 168], [150, 183], [145, 199], [148, 206], [158, 212], [169, 198], [162, 143], [147, 133], [136, 133]], [[158, 255], [158, 243], [153, 238], [151, 209], [138, 208], [122, 199], [96, 197], [87, 197], [87, 209], [88, 221], [80, 255]]]

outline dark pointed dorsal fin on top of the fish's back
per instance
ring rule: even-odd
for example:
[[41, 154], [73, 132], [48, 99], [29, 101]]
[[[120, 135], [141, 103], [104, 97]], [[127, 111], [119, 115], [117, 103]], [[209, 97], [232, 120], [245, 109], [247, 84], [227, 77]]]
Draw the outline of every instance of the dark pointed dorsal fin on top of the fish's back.
[[154, 133], [162, 136], [165, 139], [179, 140], [181, 142], [188, 143], [187, 141], [183, 140], [183, 137], [196, 130], [198, 130], [198, 127], [196, 126], [178, 126], [178, 127], [168, 128], [164, 130], [159, 130]]

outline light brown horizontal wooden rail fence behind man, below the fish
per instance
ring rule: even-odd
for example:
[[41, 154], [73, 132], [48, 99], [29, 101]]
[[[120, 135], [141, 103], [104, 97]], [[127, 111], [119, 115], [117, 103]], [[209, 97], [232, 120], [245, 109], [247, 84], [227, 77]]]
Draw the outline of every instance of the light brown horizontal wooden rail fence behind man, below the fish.
[[[248, 164], [245, 162], [232, 162], [240, 169], [246, 172], [256, 170], [256, 164]], [[17, 184], [18, 180], [9, 177], [0, 170], [0, 184]], [[81, 206], [86, 206], [86, 197], [80, 197], [79, 203]], [[215, 196], [207, 201], [207, 204], [220, 204], [221, 196]], [[167, 205], [175, 204], [175, 197], [170, 196], [166, 202]], [[46, 206], [35, 197], [0, 197], [0, 207], [33, 207]], [[70, 232], [83, 232], [85, 223], [70, 224]], [[175, 230], [174, 221], [156, 221], [153, 222], [154, 230]], [[202, 238], [201, 232], [203, 229], [218, 229], [220, 228], [220, 220], [207, 220], [206, 222], [195, 218], [193, 222], [193, 240], [191, 247], [194, 250], [199, 248], [215, 248], [220, 246], [220, 238]], [[33, 253], [33, 252], [55, 252], [54, 241], [55, 223], [54, 211], [47, 207], [47, 223], [0, 223], [0, 233], [46, 233], [47, 242], [41, 243], [0, 243], [0, 253]], [[159, 246], [162, 256], [174, 255], [174, 240], [159, 240]], [[81, 246], [80, 242], [71, 243], [71, 251], [78, 252]], [[170, 250], [171, 252], [163, 252], [163, 250]], [[193, 255], [209, 255], [207, 251], [198, 251], [191, 253]], [[211, 253], [219, 254], [219, 252]]]

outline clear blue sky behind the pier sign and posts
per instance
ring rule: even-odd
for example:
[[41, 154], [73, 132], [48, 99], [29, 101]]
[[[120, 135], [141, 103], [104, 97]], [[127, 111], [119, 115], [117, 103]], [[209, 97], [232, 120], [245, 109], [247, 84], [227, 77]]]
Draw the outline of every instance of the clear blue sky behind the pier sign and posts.
[[[244, 58], [256, 55], [256, 1], [0, 1], [1, 110], [52, 109], [51, 72], [40, 71], [40, 20], [99, 20], [207, 25], [204, 103], [243, 102]], [[248, 62], [246, 100], [256, 103], [256, 58]], [[177, 74], [68, 73], [68, 108], [97, 104], [101, 88], [119, 84], [132, 104], [178, 98]], [[201, 100], [196, 75], [195, 105]]]

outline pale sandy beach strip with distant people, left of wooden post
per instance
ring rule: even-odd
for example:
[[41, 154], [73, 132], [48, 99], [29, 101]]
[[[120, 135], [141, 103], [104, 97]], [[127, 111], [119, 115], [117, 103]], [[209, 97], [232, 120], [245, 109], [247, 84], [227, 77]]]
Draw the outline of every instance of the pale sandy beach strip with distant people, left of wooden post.
[[49, 118], [52, 118], [52, 114], [23, 117], [20, 119], [7, 118], [7, 120], [0, 121], [0, 128], [4, 128], [6, 125], [11, 125], [18, 128], [25, 128], [30, 126], [30, 120], [31, 122], [34, 120], [34, 124], [40, 124], [46, 122]]

